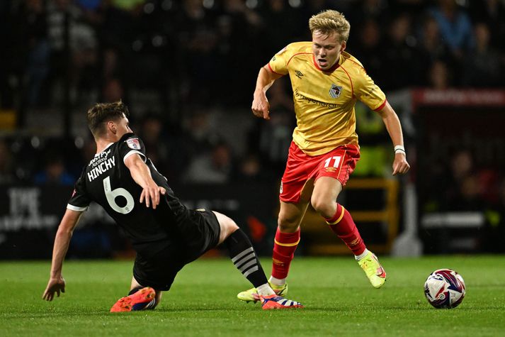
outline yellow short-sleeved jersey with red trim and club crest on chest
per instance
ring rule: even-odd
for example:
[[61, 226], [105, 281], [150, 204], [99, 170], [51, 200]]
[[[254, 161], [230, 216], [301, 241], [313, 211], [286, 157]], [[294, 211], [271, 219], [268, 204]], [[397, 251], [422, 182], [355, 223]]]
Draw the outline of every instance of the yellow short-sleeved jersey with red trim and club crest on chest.
[[337, 146], [356, 144], [356, 100], [378, 111], [386, 96], [363, 65], [342, 52], [328, 71], [319, 68], [312, 42], [291, 43], [268, 62], [277, 74], [289, 74], [297, 126], [293, 141], [307, 155], [322, 155]]

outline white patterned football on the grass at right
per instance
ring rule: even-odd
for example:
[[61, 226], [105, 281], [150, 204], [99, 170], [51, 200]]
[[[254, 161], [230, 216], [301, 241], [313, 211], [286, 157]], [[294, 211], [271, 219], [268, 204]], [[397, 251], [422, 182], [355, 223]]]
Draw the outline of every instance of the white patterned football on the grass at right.
[[452, 309], [460, 305], [465, 292], [463, 277], [450, 269], [435, 270], [424, 282], [424, 296], [437, 309]]

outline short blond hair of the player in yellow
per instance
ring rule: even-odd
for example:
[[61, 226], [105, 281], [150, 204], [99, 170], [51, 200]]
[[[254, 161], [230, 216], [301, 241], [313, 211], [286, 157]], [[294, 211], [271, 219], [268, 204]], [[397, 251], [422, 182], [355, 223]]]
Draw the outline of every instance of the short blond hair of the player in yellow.
[[320, 31], [323, 34], [339, 33], [340, 42], [342, 43], [349, 38], [351, 24], [346, 20], [344, 14], [327, 9], [310, 18], [309, 28], [310, 33], [314, 33], [314, 31]]

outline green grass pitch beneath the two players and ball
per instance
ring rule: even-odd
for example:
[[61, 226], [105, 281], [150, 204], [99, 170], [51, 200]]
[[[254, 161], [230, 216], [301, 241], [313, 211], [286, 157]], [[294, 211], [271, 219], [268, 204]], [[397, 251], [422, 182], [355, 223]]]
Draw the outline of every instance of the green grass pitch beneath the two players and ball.
[[[131, 261], [68, 260], [67, 292], [53, 302], [41, 299], [49, 261], [0, 262], [0, 336], [505, 336], [505, 256], [381, 262], [387, 282], [373, 289], [351, 257], [297, 257], [288, 297], [305, 309], [262, 311], [236, 298], [249, 284], [228, 259], [200, 259], [156, 310], [120, 314], [108, 310], [127, 293]], [[465, 279], [458, 308], [424, 298], [424, 280], [442, 267]]]

